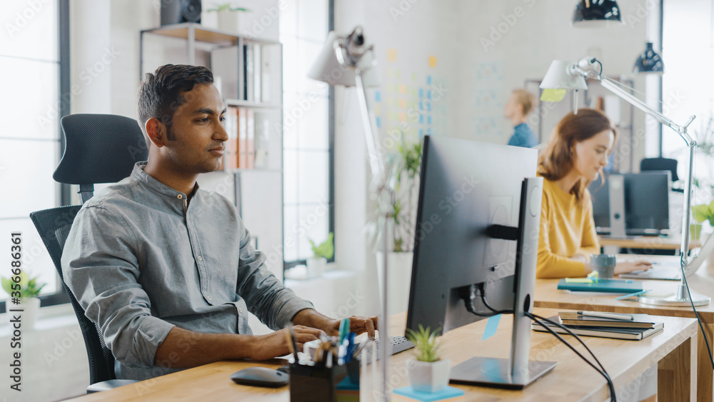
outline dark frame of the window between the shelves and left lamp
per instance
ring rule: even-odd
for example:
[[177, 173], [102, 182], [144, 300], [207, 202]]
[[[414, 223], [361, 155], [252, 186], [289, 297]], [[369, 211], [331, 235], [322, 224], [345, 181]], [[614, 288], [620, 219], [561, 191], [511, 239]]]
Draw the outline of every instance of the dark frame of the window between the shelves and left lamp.
[[[327, 11], [327, 28], [329, 31], [335, 30], [335, 0], [328, 0]], [[331, 85], [328, 89], [328, 233], [333, 233], [333, 244], [336, 243], [337, 233], [335, 233], [335, 86]], [[283, 166], [284, 169], [284, 166]], [[285, 178], [283, 177], [283, 181]], [[284, 187], [283, 187], [284, 189]], [[283, 192], [283, 238], [285, 238], [285, 194]], [[285, 246], [283, 245], [283, 253]], [[327, 260], [328, 263], [335, 262], [337, 255], [337, 247], [332, 258]], [[298, 259], [295, 261], [286, 261], [283, 256], [283, 273], [286, 270], [298, 265], [305, 265], [307, 260]]]

